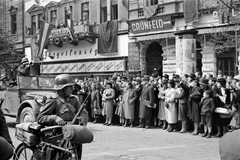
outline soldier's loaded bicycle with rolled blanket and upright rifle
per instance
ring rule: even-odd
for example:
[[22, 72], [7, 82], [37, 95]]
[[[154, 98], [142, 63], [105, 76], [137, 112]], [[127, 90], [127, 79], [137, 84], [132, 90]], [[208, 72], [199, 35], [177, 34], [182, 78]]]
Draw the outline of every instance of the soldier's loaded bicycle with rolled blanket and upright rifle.
[[[74, 124], [80, 120], [78, 115], [87, 98], [69, 125], [45, 127], [32, 122], [16, 125], [15, 135], [22, 143], [15, 149], [13, 160], [81, 160], [82, 144], [91, 143], [93, 135], [86, 127]], [[89, 136], [81, 136], [82, 133]]]

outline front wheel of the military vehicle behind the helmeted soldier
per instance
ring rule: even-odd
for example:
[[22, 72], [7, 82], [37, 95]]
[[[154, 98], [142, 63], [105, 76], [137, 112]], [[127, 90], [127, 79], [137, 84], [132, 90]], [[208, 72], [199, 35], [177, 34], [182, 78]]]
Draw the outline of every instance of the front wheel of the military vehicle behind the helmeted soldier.
[[31, 107], [26, 107], [20, 114], [20, 123], [35, 122], [36, 117]]

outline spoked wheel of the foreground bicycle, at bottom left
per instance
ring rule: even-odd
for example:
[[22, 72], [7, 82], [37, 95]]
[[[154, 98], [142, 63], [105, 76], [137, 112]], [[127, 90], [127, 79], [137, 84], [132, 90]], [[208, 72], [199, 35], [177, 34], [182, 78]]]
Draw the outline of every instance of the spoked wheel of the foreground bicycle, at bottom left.
[[35, 150], [36, 149], [29, 147], [25, 143], [21, 143], [18, 145], [14, 152], [13, 160], [37, 160], [34, 158]]

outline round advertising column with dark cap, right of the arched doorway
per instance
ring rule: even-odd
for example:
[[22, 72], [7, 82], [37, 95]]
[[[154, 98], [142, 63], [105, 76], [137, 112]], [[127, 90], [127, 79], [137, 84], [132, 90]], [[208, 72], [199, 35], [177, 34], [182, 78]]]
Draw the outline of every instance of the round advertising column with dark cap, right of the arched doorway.
[[176, 73], [196, 72], [196, 30], [183, 30], [176, 35]]

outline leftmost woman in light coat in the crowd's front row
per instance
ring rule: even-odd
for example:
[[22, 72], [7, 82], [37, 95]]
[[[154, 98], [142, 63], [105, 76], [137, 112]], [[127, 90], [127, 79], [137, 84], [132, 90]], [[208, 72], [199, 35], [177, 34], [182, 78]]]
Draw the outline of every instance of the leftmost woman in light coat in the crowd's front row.
[[104, 123], [104, 125], [110, 126], [110, 125], [112, 125], [114, 98], [115, 98], [115, 93], [114, 93], [114, 89], [112, 89], [111, 82], [108, 82], [106, 84], [106, 92], [105, 93], [106, 93], [106, 95], [105, 95], [106, 122]]

